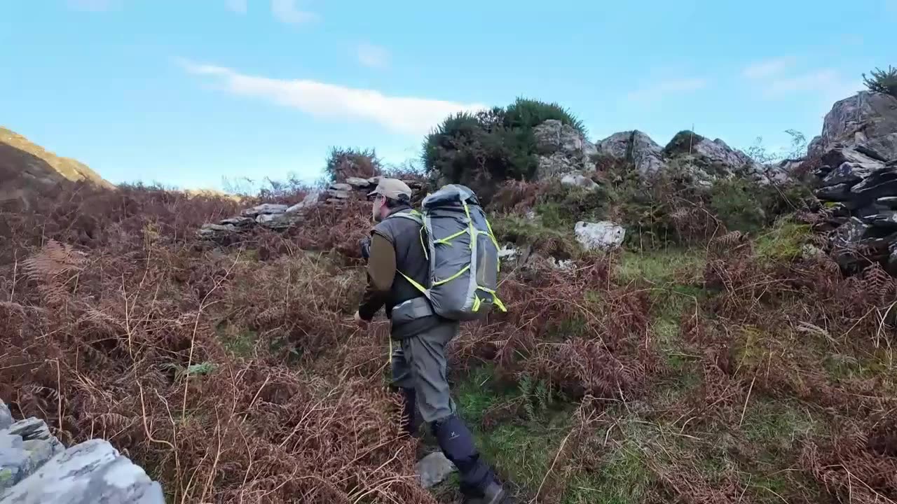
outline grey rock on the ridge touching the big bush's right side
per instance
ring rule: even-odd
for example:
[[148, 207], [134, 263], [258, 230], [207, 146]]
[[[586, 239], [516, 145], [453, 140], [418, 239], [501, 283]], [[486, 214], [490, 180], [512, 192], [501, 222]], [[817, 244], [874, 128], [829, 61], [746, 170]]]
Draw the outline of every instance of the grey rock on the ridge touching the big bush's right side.
[[539, 153], [538, 178], [592, 170], [595, 144], [573, 126], [549, 119], [533, 129]]

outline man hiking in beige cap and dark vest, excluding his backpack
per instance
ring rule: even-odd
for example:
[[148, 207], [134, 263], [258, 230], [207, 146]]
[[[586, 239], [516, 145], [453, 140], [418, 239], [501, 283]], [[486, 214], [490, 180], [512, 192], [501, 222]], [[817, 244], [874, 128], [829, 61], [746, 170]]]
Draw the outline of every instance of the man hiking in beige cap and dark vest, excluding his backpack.
[[367, 252], [368, 286], [355, 322], [365, 328], [379, 308], [386, 308], [390, 337], [397, 343], [390, 356], [392, 387], [403, 395], [403, 429], [416, 435], [415, 409], [419, 410], [442, 453], [457, 467], [465, 502], [499, 504], [506, 492], [480, 458], [449, 395], [445, 350], [457, 335], [459, 323], [436, 315], [419, 289], [430, 284], [430, 265], [420, 221], [401, 215], [413, 213], [411, 188], [401, 180], [381, 178], [368, 196], [373, 196], [377, 224]]

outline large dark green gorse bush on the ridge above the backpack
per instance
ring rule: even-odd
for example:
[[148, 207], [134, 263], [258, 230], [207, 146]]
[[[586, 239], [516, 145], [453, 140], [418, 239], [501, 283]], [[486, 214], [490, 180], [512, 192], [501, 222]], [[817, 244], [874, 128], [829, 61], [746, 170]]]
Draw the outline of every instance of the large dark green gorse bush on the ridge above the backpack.
[[424, 168], [444, 183], [472, 187], [489, 201], [505, 180], [536, 178], [533, 129], [548, 119], [585, 132], [582, 122], [556, 103], [518, 99], [506, 108], [446, 118], [423, 142]]

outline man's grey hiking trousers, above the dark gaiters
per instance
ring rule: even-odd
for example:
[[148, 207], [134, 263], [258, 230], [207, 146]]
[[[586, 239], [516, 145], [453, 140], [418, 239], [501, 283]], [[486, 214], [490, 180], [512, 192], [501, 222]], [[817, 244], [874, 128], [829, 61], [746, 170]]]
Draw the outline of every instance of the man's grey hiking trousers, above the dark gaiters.
[[457, 335], [457, 321], [395, 342], [392, 352], [392, 385], [412, 388], [423, 421], [431, 424], [455, 414], [448, 390], [446, 345]]

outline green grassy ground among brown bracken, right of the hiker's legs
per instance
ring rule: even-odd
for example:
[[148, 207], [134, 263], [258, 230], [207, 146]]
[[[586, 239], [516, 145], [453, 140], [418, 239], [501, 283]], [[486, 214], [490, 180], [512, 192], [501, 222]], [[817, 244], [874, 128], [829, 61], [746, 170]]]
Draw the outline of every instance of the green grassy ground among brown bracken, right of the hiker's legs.
[[[806, 229], [784, 222], [757, 240], [758, 256], [794, 258], [806, 236]], [[518, 498], [538, 495], [541, 501], [564, 504], [634, 504], [690, 496], [702, 502], [773, 503], [810, 502], [823, 495], [817, 482], [795, 468], [801, 439], [821, 435], [830, 427], [831, 415], [818, 404], [769, 394], [750, 384], [746, 392], [739, 391], [737, 402], [705, 404], [704, 411], [685, 406], [706, 403], [709, 387], [701, 348], [681, 334], [684, 314], [693, 312], [697, 317], [713, 295], [701, 285], [706, 255], [700, 248], [624, 252], [615, 262], [615, 282], [650, 291], [651, 334], [663, 366], [646, 397], [610, 404], [597, 413], [591, 430], [576, 439], [580, 448], [585, 447], [577, 450], [582, 453], [570, 454], [565, 449], [570, 447], [564, 447], [577, 429], [576, 404], [536, 391], [550, 384], [494, 383], [489, 368], [459, 378], [455, 393], [460, 411], [475, 429], [484, 456], [499, 468]], [[784, 336], [751, 330], [736, 334], [744, 361], [769, 351], [763, 338], [782, 343]], [[813, 343], [792, 343], [799, 343], [807, 356], [816, 354]], [[822, 362], [832, 379], [893, 372], [893, 366], [881, 361], [829, 356]], [[513, 408], [519, 412], [516, 417], [490, 422], [490, 412], [521, 402], [529, 405]], [[561, 482], [556, 481], [559, 472]], [[449, 481], [436, 489], [440, 500], [455, 498], [450, 491], [454, 484]]]

